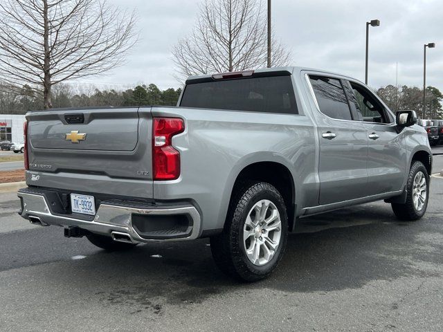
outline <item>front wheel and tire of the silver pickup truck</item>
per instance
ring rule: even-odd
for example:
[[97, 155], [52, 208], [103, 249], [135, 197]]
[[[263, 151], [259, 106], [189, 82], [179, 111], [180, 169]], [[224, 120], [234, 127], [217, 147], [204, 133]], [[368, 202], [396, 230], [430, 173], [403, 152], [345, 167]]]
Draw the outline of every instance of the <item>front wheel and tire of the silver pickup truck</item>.
[[[422, 174], [422, 179], [419, 179], [420, 173]], [[426, 187], [423, 188], [422, 185], [417, 185], [417, 180], [426, 185]], [[422, 190], [419, 190], [419, 188], [422, 188]], [[395, 216], [400, 220], [418, 220], [422, 218], [428, 207], [429, 174], [426, 167], [417, 160], [414, 161], [410, 167], [406, 190], [408, 191], [406, 203], [391, 203], [392, 211], [394, 211]], [[421, 194], [418, 194], [418, 192], [421, 192]], [[423, 198], [424, 195], [426, 195], [426, 197]], [[420, 206], [417, 202], [422, 202], [422, 205]]]

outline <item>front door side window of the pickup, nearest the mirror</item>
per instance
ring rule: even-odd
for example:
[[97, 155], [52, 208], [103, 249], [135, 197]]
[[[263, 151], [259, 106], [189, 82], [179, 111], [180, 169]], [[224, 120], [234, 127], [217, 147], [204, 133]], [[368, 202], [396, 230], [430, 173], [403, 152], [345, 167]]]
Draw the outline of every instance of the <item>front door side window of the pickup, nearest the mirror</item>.
[[354, 104], [359, 120], [366, 122], [390, 123], [383, 105], [363, 86], [350, 82], [352, 92], [350, 102]]

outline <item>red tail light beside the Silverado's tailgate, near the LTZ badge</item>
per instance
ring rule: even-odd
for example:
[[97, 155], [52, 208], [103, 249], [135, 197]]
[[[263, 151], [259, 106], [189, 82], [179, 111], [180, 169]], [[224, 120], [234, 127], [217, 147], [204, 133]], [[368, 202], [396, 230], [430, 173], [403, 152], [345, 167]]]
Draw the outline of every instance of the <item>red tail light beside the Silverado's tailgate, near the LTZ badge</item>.
[[175, 180], [180, 176], [180, 152], [172, 137], [185, 130], [180, 118], [154, 118], [152, 129], [152, 173], [154, 180]]

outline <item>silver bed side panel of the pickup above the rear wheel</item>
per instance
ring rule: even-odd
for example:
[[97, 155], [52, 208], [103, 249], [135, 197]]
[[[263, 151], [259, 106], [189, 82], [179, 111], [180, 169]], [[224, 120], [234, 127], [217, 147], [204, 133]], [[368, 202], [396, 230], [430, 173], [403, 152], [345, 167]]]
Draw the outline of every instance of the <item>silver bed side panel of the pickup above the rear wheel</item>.
[[309, 200], [318, 199], [316, 145], [307, 116], [186, 107], [154, 107], [152, 116], [186, 122], [186, 130], [172, 140], [181, 154], [181, 176], [154, 181], [154, 199], [194, 201], [204, 230], [223, 228], [237, 175], [261, 161], [286, 166], [296, 183], [297, 203], [315, 205]]

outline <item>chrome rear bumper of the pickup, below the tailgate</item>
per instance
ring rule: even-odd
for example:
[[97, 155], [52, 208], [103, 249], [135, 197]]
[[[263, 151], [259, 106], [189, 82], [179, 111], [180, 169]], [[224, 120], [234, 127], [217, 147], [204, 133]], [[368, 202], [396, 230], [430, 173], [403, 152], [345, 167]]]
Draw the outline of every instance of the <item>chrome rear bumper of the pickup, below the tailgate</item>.
[[[33, 217], [41, 221], [42, 225], [59, 225], [64, 227], [76, 226], [93, 233], [112, 236], [114, 240], [120, 241], [114, 237], [114, 234], [127, 234], [133, 243], [151, 242], [151, 241], [184, 241], [197, 239], [201, 229], [201, 218], [197, 209], [192, 206], [180, 206], [174, 208], [153, 206], [152, 208], [131, 208], [120, 205], [100, 204], [93, 220], [87, 221], [75, 219], [69, 216], [53, 214], [48, 207], [44, 195], [28, 192], [18, 192], [17, 196], [22, 199], [22, 211], [20, 215], [30, 220]], [[152, 216], [186, 214], [190, 220], [192, 230], [187, 237], [173, 239], [144, 239], [141, 237], [132, 225], [132, 214], [149, 214]], [[127, 241], [125, 241], [127, 242]]]

